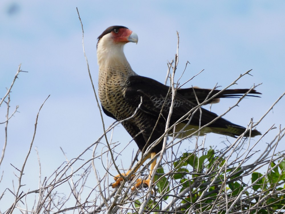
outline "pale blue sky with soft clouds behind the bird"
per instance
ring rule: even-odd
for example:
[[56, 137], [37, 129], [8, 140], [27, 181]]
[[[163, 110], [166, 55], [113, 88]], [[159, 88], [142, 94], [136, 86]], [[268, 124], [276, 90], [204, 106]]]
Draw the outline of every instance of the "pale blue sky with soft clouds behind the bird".
[[[19, 75], [11, 94], [10, 112], [19, 105], [19, 113], [9, 121], [7, 148], [0, 168], [1, 174], [4, 171], [0, 194], [5, 187], [12, 189], [12, 179], [17, 181], [10, 163], [21, 168], [32, 139], [36, 114], [49, 94], [40, 112], [33, 146], [40, 154], [42, 176], [50, 175], [65, 161], [60, 147], [71, 159], [103, 133], [82, 51], [76, 7], [84, 25], [85, 49], [96, 89], [97, 37], [111, 25], [124, 25], [139, 36], [138, 44], [127, 44], [125, 53], [133, 70], [142, 76], [164, 82], [167, 62], [176, 53], [176, 31], [180, 35], [180, 64], [176, 76], [182, 74], [187, 60], [191, 63], [181, 83], [205, 69], [187, 84], [188, 87], [213, 88], [218, 83], [222, 89], [239, 74], [253, 69], [253, 76], [243, 77], [233, 88], [262, 83], [257, 88], [262, 98], [243, 100], [225, 116], [231, 122], [246, 126], [251, 117], [257, 121], [284, 92], [284, 1], [3, 0], [0, 3], [0, 96], [6, 93], [5, 87], [10, 86], [20, 63], [21, 69], [28, 73]], [[221, 114], [234, 103], [233, 99], [223, 100], [212, 110]], [[284, 126], [284, 106], [283, 99], [258, 130], [264, 133], [273, 124]], [[6, 107], [2, 104], [0, 122], [5, 121], [5, 114]], [[106, 126], [113, 122], [105, 115], [104, 120]], [[0, 142], [4, 142], [4, 125], [0, 130]], [[277, 132], [273, 130], [261, 144], [266, 145]], [[223, 139], [210, 134], [206, 146]], [[115, 129], [113, 141], [120, 142], [121, 148], [130, 140], [121, 126]], [[188, 145], [190, 149], [192, 146]], [[136, 152], [137, 146], [133, 143], [127, 150]], [[127, 168], [131, 157], [122, 159]], [[26, 174], [32, 178], [24, 178], [25, 188], [36, 189], [37, 185], [32, 182], [38, 179], [34, 149]]]

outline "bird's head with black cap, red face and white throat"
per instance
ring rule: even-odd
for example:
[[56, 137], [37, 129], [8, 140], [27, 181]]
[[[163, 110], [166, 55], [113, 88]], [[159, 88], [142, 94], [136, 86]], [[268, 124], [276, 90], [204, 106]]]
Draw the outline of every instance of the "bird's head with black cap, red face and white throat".
[[124, 62], [127, 59], [123, 47], [128, 42], [138, 42], [138, 36], [124, 26], [108, 27], [97, 42], [97, 60], [99, 66], [109, 61]]

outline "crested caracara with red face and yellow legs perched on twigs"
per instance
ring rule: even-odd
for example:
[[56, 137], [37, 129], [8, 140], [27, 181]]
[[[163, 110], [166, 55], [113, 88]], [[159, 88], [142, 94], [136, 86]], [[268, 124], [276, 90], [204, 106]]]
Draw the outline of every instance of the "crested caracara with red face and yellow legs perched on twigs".
[[[136, 142], [139, 150], [144, 152], [165, 132], [166, 120], [172, 102], [170, 86], [166, 86], [152, 78], [140, 76], [131, 68], [123, 48], [126, 43], [138, 42], [138, 36], [135, 32], [127, 27], [116, 25], [108, 27], [97, 39], [98, 91], [102, 110], [107, 116], [121, 121], [123, 127]], [[218, 92], [220, 90], [197, 87], [176, 88], [170, 126], [184, 116], [180, 123], [175, 126], [175, 132], [182, 131], [180, 137], [192, 134], [218, 117], [217, 114], [204, 108], [188, 113], [199, 103]], [[206, 104], [217, 103], [219, 98], [241, 97], [247, 92], [251, 94], [247, 96], [259, 97], [257, 94], [261, 94], [253, 89], [227, 89]], [[244, 134], [245, 131], [246, 128], [243, 126], [234, 124], [224, 118], [218, 118], [209, 126], [201, 129], [199, 135], [213, 132], [237, 137]], [[245, 133], [245, 136], [254, 137], [260, 134], [257, 130], [251, 130]], [[163, 142], [160, 141], [152, 148], [150, 154], [144, 160], [141, 160], [140, 166], [148, 158], [153, 158], [159, 153], [162, 146]], [[135, 187], [139, 187], [142, 183], [150, 184], [150, 177], [155, 165], [156, 160], [150, 164], [148, 178], [138, 180]], [[139, 167], [134, 171], [137, 171]], [[122, 175], [127, 175], [130, 171]], [[116, 175], [114, 179], [113, 188], [119, 186], [123, 180], [120, 175]]]

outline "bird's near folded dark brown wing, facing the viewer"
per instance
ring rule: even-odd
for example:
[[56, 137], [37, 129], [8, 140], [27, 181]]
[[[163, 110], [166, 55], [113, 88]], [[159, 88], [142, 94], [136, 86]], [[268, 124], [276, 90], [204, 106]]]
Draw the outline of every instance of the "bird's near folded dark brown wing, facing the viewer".
[[[125, 91], [125, 99], [127, 102], [138, 106], [142, 97], [143, 102], [140, 109], [147, 113], [147, 116], [154, 117], [157, 120], [160, 112], [162, 112], [162, 119], [166, 120], [171, 105], [169, 87], [161, 84], [156, 80], [143, 76], [131, 76], [129, 77], [128, 82], [128, 87]], [[183, 93], [176, 94], [173, 113], [171, 116], [171, 124], [174, 124], [177, 120], [179, 120], [197, 105], [196, 103], [188, 100], [188, 97], [184, 97]], [[218, 116], [217, 114], [203, 108], [201, 108], [201, 111], [201, 118], [200, 111], [197, 111], [194, 115], [191, 115], [191, 121], [185, 120], [183, 123], [190, 123], [190, 125], [194, 126], [203, 126]], [[148, 120], [148, 118], [145, 118], [145, 120]], [[217, 121], [209, 125], [209, 127], [215, 128], [215, 131], [213, 132], [230, 136], [238, 136], [242, 133], [241, 130], [245, 131], [244, 127], [233, 124], [223, 118], [219, 118]], [[216, 130], [216, 128], [228, 129], [229, 127], [231, 127], [231, 129], [227, 132], [224, 130], [223, 132]], [[257, 134], [260, 133], [258, 132], [256, 135]]]

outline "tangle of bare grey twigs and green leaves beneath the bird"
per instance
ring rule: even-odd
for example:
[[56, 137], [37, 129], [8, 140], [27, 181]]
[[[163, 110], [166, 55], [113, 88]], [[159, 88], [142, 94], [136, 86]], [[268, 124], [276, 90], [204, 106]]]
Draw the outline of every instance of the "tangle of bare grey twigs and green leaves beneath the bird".
[[[169, 64], [169, 70], [173, 69], [172, 83], [177, 64], [178, 53], [175, 56], [174, 65], [173, 63]], [[6, 121], [2, 123], [5, 126], [6, 136], [8, 121], [17, 111], [16, 108], [9, 115], [9, 93], [20, 72], [19, 67], [11, 87], [0, 101], [0, 106], [4, 103], [4, 100], [7, 104]], [[249, 74], [249, 72], [239, 76], [229, 86], [235, 84], [239, 78]], [[172, 85], [174, 86], [174, 84]], [[237, 106], [242, 99], [243, 97], [234, 106]], [[197, 110], [199, 109], [198, 107], [196, 108]], [[38, 116], [39, 114], [36, 116], [35, 130], [32, 133], [33, 139], [36, 135]], [[262, 116], [261, 120], [264, 116]], [[249, 127], [257, 126], [260, 121], [255, 125], [251, 122]], [[15, 167], [18, 186], [14, 187], [12, 181], [11, 184], [7, 184], [5, 191], [0, 193], [0, 201], [5, 200], [5, 205], [9, 204], [9, 208], [4, 212], [6, 214], [15, 213], [15, 211], [23, 213], [90, 214], [277, 214], [285, 211], [285, 156], [283, 154], [284, 151], [278, 153], [275, 151], [284, 137], [285, 129], [282, 129], [281, 126], [278, 132], [275, 133], [276, 137], [267, 139], [268, 146], [259, 148], [258, 152], [255, 151], [256, 147], [262, 143], [261, 140], [264, 139], [266, 134], [274, 129], [273, 126], [259, 139], [256, 138], [255, 141], [251, 138], [243, 138], [243, 136], [234, 140], [233, 138], [231, 140], [227, 139], [227, 142], [230, 142], [230, 144], [222, 149], [204, 148], [203, 143], [201, 143], [203, 140], [201, 140], [201, 137], [197, 137], [194, 138], [196, 142], [192, 142], [192, 145], [196, 145], [195, 149], [183, 154], [179, 153], [181, 151], [179, 148], [185, 143], [186, 138], [178, 139], [176, 135], [168, 135], [166, 131], [158, 139], [159, 141], [164, 141], [165, 147], [158, 158], [159, 164], [155, 168], [154, 183], [149, 188], [131, 191], [131, 186], [135, 184], [138, 177], [143, 176], [144, 173], [146, 176], [149, 175], [147, 169], [149, 163], [141, 167], [140, 171], [135, 173], [132, 179], [123, 179], [118, 188], [112, 189], [109, 186], [109, 178], [111, 179], [112, 177], [109, 173], [112, 172], [111, 169], [113, 167], [115, 167], [116, 171], [118, 170], [116, 164], [119, 162], [118, 158], [120, 158], [122, 151], [114, 151], [117, 144], [111, 141], [108, 142], [107, 135], [110, 136], [110, 132], [119, 124], [120, 122], [115, 122], [106, 129], [104, 126], [104, 133], [80, 152], [77, 157], [71, 157], [70, 160], [66, 157], [66, 162], [59, 163], [57, 170], [52, 172], [51, 175], [44, 175], [42, 179], [40, 174], [39, 187], [37, 189], [31, 190], [28, 187], [28, 191], [23, 191], [25, 184], [21, 179], [23, 176], [28, 176], [25, 175], [24, 171], [27, 168], [27, 159], [33, 147], [32, 140], [21, 170]], [[217, 145], [218, 143], [220, 142], [212, 142], [212, 145]], [[0, 165], [4, 158], [6, 144], [7, 138], [3, 146]], [[149, 151], [150, 149], [146, 149], [146, 152]], [[139, 157], [137, 154], [138, 160], [140, 159]], [[38, 159], [40, 165], [40, 158]], [[103, 161], [101, 162], [105, 171], [99, 172], [97, 170], [95, 160], [107, 160], [106, 164]], [[132, 167], [133, 165], [129, 168]], [[1, 183], [1, 185], [3, 184]], [[12, 195], [13, 200], [7, 202], [7, 195]], [[1, 209], [3, 208], [0, 207], [0, 213], [3, 212]]]

